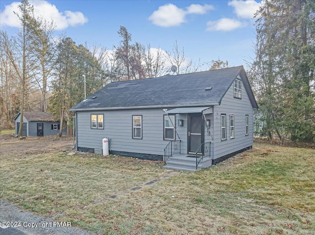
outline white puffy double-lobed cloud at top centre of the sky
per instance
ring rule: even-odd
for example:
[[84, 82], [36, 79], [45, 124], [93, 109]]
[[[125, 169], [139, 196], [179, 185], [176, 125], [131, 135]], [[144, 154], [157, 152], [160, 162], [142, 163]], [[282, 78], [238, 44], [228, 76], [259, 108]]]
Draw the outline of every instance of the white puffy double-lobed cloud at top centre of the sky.
[[187, 22], [186, 15], [188, 14], [206, 14], [208, 10], [214, 9], [212, 5], [191, 4], [186, 7], [187, 11], [178, 8], [174, 4], [168, 3], [159, 6], [158, 10], [154, 11], [149, 17], [154, 25], [161, 27], [180, 26]]

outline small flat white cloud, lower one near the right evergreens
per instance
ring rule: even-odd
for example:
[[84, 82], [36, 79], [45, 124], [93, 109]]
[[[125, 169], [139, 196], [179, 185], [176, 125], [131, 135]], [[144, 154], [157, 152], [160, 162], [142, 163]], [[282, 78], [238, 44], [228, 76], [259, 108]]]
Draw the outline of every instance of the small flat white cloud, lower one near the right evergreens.
[[245, 27], [247, 23], [238, 20], [222, 18], [217, 21], [207, 22], [207, 31], [232, 31], [236, 28]]

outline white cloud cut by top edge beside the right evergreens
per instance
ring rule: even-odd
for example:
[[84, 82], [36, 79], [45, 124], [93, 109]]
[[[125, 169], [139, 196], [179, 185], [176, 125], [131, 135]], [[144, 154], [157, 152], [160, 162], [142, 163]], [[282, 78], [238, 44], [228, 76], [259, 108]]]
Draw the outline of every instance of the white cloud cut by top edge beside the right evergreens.
[[243, 19], [252, 19], [262, 2], [254, 0], [232, 0], [228, 2], [229, 6], [234, 7], [234, 13]]

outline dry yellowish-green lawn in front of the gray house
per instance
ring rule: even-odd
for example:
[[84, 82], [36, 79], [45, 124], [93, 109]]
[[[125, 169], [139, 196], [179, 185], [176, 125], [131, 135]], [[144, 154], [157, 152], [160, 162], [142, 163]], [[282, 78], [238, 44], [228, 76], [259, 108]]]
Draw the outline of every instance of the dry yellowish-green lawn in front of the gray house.
[[1, 198], [103, 234], [314, 235], [315, 151], [255, 147], [168, 178], [128, 157], [3, 155]]

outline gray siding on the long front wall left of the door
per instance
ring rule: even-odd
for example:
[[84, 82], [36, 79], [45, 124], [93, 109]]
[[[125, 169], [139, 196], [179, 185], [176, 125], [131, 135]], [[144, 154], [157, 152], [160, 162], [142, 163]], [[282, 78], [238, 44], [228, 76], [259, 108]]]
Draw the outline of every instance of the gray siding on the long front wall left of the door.
[[[104, 114], [104, 129], [91, 129], [91, 114]], [[110, 139], [110, 150], [163, 155], [169, 140], [163, 140], [162, 108], [124, 109], [77, 112], [77, 146], [102, 149], [102, 139]], [[142, 139], [132, 138], [132, 115], [142, 115]], [[184, 126], [178, 127], [178, 120]], [[182, 139], [182, 151], [187, 151], [187, 115], [176, 115], [175, 128]], [[175, 133], [176, 140], [179, 139]]]

